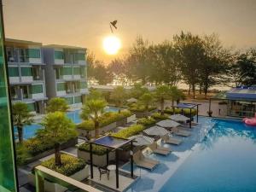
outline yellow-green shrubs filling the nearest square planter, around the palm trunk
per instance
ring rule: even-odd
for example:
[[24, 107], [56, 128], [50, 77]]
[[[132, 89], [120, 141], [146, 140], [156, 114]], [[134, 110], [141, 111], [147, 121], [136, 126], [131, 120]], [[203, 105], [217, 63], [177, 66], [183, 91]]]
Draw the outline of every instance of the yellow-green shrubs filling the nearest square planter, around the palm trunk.
[[67, 177], [84, 169], [86, 163], [84, 160], [78, 159], [68, 154], [61, 154], [61, 166], [55, 166], [55, 158], [44, 161], [41, 166], [45, 166], [50, 170], [59, 172]]

